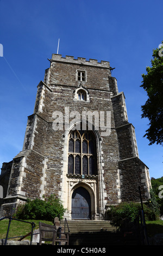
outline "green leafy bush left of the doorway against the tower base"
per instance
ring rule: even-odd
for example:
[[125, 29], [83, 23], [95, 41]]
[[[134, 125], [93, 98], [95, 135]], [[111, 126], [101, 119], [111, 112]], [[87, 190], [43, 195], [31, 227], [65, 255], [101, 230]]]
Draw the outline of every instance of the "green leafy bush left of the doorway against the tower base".
[[64, 209], [60, 199], [52, 194], [45, 200], [38, 198], [34, 200], [27, 199], [26, 204], [18, 205], [14, 217], [21, 220], [52, 221], [54, 217], [62, 218], [65, 211], [66, 209]]

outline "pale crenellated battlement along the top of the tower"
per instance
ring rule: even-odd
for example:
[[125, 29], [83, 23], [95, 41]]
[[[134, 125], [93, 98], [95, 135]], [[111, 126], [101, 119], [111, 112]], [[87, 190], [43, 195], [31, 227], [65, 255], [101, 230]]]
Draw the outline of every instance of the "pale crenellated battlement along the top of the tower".
[[52, 54], [51, 61], [55, 62], [67, 62], [67, 63], [74, 63], [74, 64], [83, 64], [83, 65], [90, 65], [90, 66], [99, 66], [101, 68], [110, 68], [110, 62], [106, 62], [104, 60], [101, 60], [101, 63], [98, 62], [97, 59], [89, 59], [86, 60], [85, 58], [78, 57], [77, 59], [74, 59], [73, 56], [66, 56], [65, 58], [62, 57], [61, 54]]

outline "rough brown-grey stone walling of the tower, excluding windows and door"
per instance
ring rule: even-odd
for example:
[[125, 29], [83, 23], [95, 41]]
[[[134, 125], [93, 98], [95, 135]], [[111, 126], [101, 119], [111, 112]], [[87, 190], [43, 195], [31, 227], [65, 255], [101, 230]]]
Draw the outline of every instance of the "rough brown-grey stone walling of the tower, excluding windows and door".
[[[77, 70], [85, 71], [85, 81], [76, 79]], [[78, 88], [85, 89], [87, 101], [77, 100]], [[42, 198], [52, 193], [70, 209], [71, 187], [81, 181], [67, 176], [65, 107], [69, 113], [78, 111], [80, 117], [83, 111], [109, 111], [111, 114], [109, 136], [102, 135], [102, 127], [96, 132], [98, 175], [82, 181], [82, 186], [92, 191], [94, 215], [103, 215], [110, 204], [138, 200], [135, 191], [139, 185], [143, 199], [149, 197], [148, 169], [139, 160], [134, 126], [128, 122], [125, 97], [118, 93], [109, 62], [53, 54], [44, 81], [37, 86], [34, 113], [27, 120], [23, 149], [12, 163], [8, 193], [1, 208], [3, 214], [11, 212], [27, 198]], [[63, 129], [57, 131], [53, 126], [56, 111], [61, 112], [63, 118]], [[73, 120], [73, 116], [68, 119], [70, 123]], [[104, 121], [106, 124], [106, 115]]]

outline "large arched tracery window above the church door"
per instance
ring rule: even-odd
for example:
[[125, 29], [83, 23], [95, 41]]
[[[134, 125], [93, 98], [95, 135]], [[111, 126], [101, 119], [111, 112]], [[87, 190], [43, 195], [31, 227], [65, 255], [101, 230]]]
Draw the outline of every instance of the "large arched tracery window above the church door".
[[96, 138], [92, 131], [71, 131], [68, 141], [68, 174], [96, 175]]

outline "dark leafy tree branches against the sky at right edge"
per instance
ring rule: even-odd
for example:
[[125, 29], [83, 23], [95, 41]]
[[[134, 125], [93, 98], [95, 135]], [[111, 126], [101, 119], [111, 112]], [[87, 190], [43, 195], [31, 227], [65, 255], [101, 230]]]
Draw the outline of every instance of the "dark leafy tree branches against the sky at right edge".
[[160, 46], [153, 50], [152, 67], [147, 66], [140, 86], [148, 95], [145, 105], [141, 106], [141, 117], [149, 119], [149, 128], [143, 136], [147, 137], [149, 145], [163, 144], [163, 41]]

